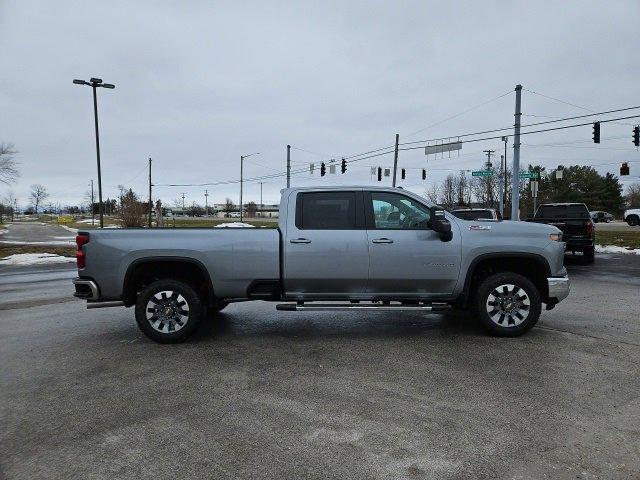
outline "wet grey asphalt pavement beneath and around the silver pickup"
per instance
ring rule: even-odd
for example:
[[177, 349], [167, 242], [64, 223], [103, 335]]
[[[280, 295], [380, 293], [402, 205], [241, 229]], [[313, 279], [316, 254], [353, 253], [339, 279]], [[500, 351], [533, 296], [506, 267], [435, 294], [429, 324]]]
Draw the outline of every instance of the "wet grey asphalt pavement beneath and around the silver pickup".
[[4, 269], [0, 478], [638, 478], [640, 256], [569, 263], [520, 338], [251, 302], [182, 345]]

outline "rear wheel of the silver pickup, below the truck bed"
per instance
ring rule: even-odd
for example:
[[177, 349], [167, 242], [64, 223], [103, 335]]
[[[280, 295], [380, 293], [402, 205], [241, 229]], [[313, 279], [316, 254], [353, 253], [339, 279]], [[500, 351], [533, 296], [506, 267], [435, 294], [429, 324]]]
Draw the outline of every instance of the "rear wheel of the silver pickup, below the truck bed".
[[[155, 310], [151, 311], [151, 308]], [[167, 309], [166, 316], [164, 310], [160, 311], [163, 308]], [[136, 301], [138, 328], [158, 343], [185, 341], [196, 330], [201, 318], [202, 300], [191, 285], [179, 280], [156, 280], [140, 292]]]

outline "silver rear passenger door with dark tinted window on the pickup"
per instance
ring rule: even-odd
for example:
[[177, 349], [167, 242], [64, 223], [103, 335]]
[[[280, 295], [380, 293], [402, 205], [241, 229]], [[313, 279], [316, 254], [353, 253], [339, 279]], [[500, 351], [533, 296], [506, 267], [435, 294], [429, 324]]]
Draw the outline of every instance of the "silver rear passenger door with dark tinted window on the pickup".
[[362, 295], [369, 276], [362, 191], [298, 192], [283, 240], [288, 297]]

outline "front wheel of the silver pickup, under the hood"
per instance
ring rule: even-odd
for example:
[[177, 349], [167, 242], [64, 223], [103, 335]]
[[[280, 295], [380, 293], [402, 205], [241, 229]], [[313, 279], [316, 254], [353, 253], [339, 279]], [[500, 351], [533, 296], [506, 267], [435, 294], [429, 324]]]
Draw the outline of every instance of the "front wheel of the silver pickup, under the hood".
[[[509, 289], [510, 285], [514, 288]], [[498, 292], [499, 287], [502, 288]], [[506, 292], [504, 288], [507, 289]], [[496, 292], [499, 295], [495, 295]], [[502, 300], [504, 303], [500, 304]], [[510, 309], [512, 301], [515, 301], [515, 305]], [[490, 305], [492, 303], [499, 305]], [[490, 315], [489, 308], [497, 313]], [[473, 309], [482, 327], [492, 335], [517, 337], [531, 330], [538, 322], [542, 299], [540, 292], [528, 278], [517, 273], [500, 272], [480, 283], [474, 296]], [[512, 313], [503, 314], [503, 311]]]

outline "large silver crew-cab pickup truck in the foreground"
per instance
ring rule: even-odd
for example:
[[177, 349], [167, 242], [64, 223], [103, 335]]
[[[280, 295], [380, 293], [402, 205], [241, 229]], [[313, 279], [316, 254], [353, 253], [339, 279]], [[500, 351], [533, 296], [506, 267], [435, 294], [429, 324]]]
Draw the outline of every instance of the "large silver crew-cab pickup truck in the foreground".
[[164, 343], [186, 339], [232, 302], [282, 311], [473, 310], [516, 336], [569, 294], [562, 233], [467, 221], [399, 188], [282, 191], [278, 228], [80, 231], [75, 296], [135, 307]]

